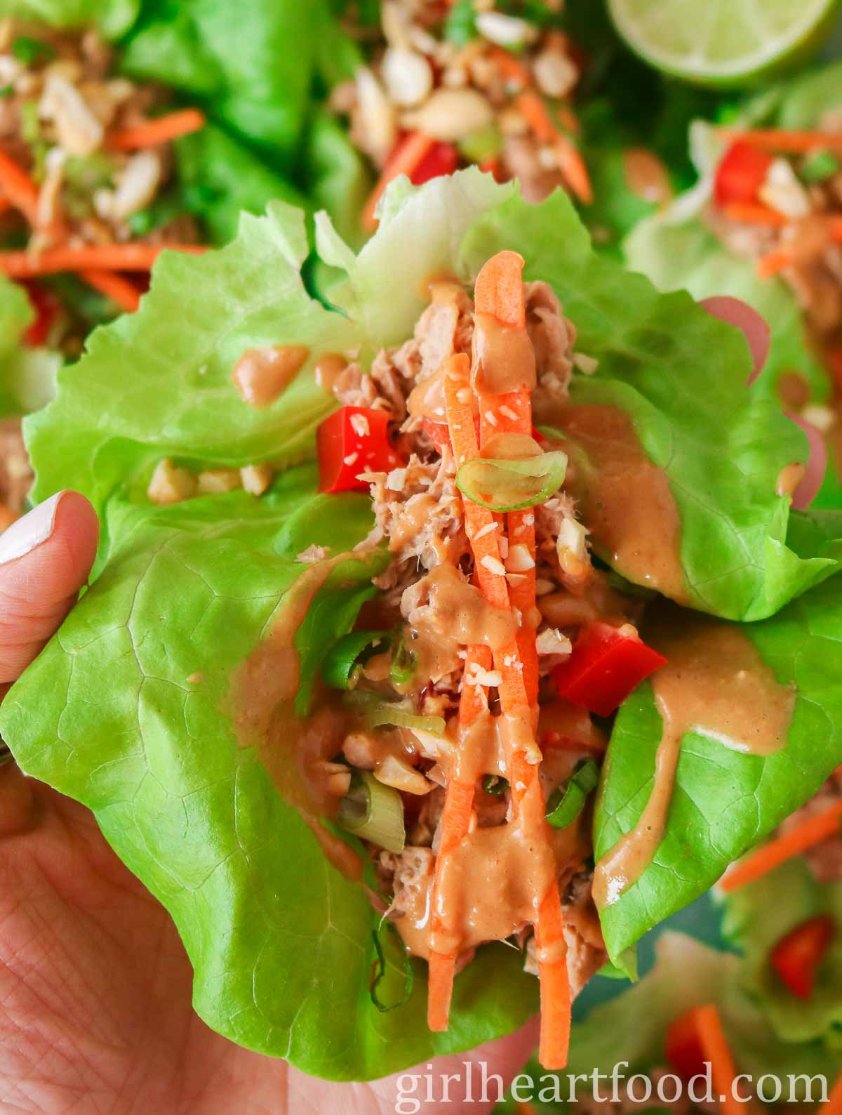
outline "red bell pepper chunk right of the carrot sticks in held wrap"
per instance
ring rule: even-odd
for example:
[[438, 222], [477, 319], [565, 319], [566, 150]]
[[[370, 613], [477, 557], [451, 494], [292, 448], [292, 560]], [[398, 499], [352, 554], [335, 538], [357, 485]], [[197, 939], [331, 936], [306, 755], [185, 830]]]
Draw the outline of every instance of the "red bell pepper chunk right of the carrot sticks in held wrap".
[[664, 656], [647, 647], [634, 628], [589, 623], [567, 661], [552, 671], [552, 680], [566, 700], [597, 716], [609, 716], [665, 663]]

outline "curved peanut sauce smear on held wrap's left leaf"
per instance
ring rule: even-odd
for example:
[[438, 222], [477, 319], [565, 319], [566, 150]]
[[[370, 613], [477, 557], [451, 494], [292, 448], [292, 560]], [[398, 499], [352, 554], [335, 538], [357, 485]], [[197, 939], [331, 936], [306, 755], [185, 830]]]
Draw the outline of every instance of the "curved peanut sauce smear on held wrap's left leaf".
[[268, 636], [239, 666], [233, 679], [232, 718], [241, 747], [255, 747], [270, 777], [285, 801], [301, 813], [327, 859], [349, 879], [359, 879], [359, 856], [321, 824], [336, 804], [326, 793], [321, 764], [341, 749], [347, 717], [319, 695], [319, 711], [307, 719], [296, 717], [295, 694], [301, 661], [295, 636], [319, 590], [343, 561], [343, 553], [307, 568], [287, 590]]

